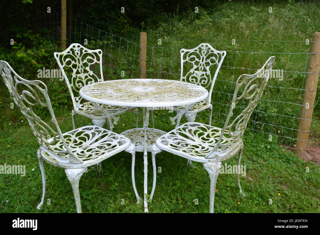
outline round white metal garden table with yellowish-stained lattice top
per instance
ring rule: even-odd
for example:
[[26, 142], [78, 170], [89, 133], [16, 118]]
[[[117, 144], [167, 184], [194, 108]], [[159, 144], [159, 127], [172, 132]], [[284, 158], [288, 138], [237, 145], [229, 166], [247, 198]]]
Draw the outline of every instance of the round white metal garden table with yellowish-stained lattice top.
[[[79, 94], [82, 98], [91, 101], [93, 106], [100, 108], [103, 112], [107, 111], [98, 104], [143, 108], [144, 207], [145, 212], [148, 212], [146, 198], [148, 181], [147, 148], [150, 142], [154, 143], [157, 137], [162, 135], [161, 130], [158, 130], [159, 136], [152, 135], [153, 139], [148, 139], [149, 110], [171, 109], [173, 106], [186, 105], [185, 111], [187, 111], [196, 102], [207, 98], [208, 91], [196, 84], [176, 80], [121, 79], [88, 84], [81, 88]], [[182, 116], [183, 114], [184, 112], [179, 115]], [[107, 115], [110, 115], [116, 124], [118, 118], [112, 117], [112, 114]], [[157, 129], [152, 130], [154, 130], [153, 133], [157, 132]], [[138, 195], [137, 199], [139, 200]]]

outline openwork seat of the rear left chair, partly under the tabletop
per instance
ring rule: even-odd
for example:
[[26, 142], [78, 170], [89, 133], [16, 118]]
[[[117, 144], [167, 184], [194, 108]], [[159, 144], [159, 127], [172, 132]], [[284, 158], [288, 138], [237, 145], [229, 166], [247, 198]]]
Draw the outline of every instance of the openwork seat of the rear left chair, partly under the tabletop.
[[[118, 115], [125, 113], [129, 110], [135, 109], [135, 107], [122, 107], [122, 106], [115, 106], [115, 105], [105, 105], [105, 104], [98, 104], [102, 106], [104, 110], [108, 111], [110, 114]], [[95, 108], [90, 102], [85, 102], [80, 104], [76, 109], [75, 112], [77, 114], [87, 114], [92, 116], [92, 118], [103, 118], [106, 119], [107, 116], [104, 114], [100, 109]]]

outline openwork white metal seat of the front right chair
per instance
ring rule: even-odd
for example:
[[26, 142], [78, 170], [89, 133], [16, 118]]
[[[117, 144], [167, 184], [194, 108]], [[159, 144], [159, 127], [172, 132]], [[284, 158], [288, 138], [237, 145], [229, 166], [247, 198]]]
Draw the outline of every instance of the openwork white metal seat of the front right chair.
[[[187, 122], [159, 137], [156, 141], [156, 146], [159, 149], [190, 160], [210, 162], [213, 158], [205, 157], [215, 147], [221, 136], [221, 131], [222, 129], [219, 127], [209, 126], [200, 122]], [[237, 149], [240, 146], [235, 146], [234, 140], [235, 138], [230, 137], [228, 130], [226, 130], [217, 152], [238, 151]], [[222, 154], [221, 156], [224, 155]]]

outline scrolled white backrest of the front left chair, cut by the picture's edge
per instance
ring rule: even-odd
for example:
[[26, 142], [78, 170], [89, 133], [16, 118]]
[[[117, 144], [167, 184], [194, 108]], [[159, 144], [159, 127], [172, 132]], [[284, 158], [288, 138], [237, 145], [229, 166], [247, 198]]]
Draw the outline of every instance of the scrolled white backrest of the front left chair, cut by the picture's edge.
[[[62, 136], [53, 113], [46, 85], [38, 80], [28, 81], [23, 79], [4, 60], [0, 60], [0, 74], [14, 102], [27, 119], [40, 144], [40, 148], [60, 163], [83, 162], [72, 154], [66, 140]], [[54, 124], [53, 127], [51, 123], [43, 121], [37, 115], [43, 112], [43, 110], [40, 110], [42, 107], [49, 110], [52, 117], [51, 122]], [[49, 141], [52, 137], [53, 139]], [[62, 140], [63, 144], [57, 145], [60, 140]]]

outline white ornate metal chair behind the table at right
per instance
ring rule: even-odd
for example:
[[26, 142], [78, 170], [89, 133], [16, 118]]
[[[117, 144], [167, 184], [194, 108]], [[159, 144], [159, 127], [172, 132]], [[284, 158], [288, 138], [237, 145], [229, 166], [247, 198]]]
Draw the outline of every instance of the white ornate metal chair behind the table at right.
[[[180, 67], [180, 81], [191, 82], [204, 88], [209, 88], [209, 95], [205, 100], [196, 103], [191, 109], [189, 109], [184, 115], [188, 121], [195, 121], [197, 113], [207, 108], [210, 109], [209, 125], [211, 125], [212, 117], [212, 104], [211, 94], [219, 73], [221, 64], [226, 51], [217, 51], [208, 43], [201, 43], [199, 46], [193, 49], [181, 49], [181, 67]], [[216, 66], [216, 70], [213, 78], [211, 77], [210, 67]], [[172, 125], [178, 127], [182, 118], [185, 106], [173, 107], [173, 110], [177, 112], [175, 117], [170, 117]]]

